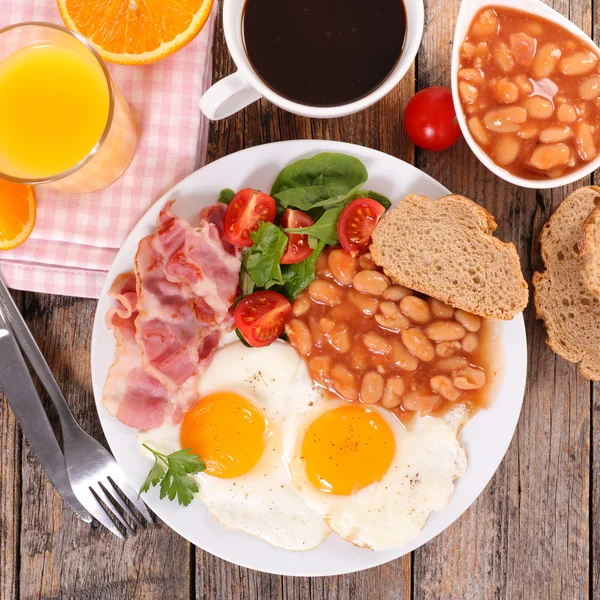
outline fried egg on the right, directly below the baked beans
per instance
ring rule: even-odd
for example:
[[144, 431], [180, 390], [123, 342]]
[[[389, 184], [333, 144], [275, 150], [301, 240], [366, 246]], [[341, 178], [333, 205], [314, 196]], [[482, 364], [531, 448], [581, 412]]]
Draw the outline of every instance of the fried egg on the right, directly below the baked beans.
[[374, 550], [417, 537], [467, 466], [444, 419], [420, 417], [409, 430], [383, 408], [318, 390], [286, 419], [284, 460], [306, 504], [342, 538]]

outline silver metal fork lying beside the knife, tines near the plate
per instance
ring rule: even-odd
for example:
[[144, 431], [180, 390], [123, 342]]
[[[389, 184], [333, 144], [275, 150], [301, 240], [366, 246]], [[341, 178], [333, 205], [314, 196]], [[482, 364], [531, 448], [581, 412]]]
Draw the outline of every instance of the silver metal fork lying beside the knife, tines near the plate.
[[[127, 482], [112, 454], [88, 435], [75, 420], [54, 375], [1, 278], [0, 309], [4, 312], [21, 349], [56, 408], [63, 432], [63, 453], [67, 475], [77, 499], [91, 515], [121, 539], [125, 539], [125, 536], [111, 516], [123, 526], [126, 533], [134, 535], [135, 531], [123, 518], [118, 510], [119, 507], [136, 525], [144, 528], [121, 494], [135, 506], [149, 525], [154, 525], [148, 508]], [[106, 510], [99, 500], [102, 500]]]

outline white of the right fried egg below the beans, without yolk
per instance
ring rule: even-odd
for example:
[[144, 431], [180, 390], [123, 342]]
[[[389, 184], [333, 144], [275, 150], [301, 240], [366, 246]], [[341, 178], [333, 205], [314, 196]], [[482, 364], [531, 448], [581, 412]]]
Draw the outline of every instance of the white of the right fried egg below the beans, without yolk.
[[284, 426], [284, 460], [306, 504], [338, 535], [363, 548], [399, 548], [419, 535], [432, 511], [448, 504], [453, 481], [466, 470], [466, 454], [456, 437], [462, 419], [448, 423], [420, 417], [409, 430], [389, 411], [369, 407], [392, 428], [396, 442], [392, 463], [379, 482], [338, 495], [322, 492], [309, 481], [301, 447], [315, 419], [346, 405], [342, 400], [323, 399], [317, 390], [297, 404]]

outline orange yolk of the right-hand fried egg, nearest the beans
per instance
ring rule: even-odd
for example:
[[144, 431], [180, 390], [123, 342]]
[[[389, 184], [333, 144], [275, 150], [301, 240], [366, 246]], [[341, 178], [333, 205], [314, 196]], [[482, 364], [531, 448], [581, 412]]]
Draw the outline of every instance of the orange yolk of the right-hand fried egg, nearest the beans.
[[394, 434], [385, 419], [360, 405], [322, 414], [302, 441], [309, 481], [322, 492], [341, 495], [380, 481], [395, 450]]

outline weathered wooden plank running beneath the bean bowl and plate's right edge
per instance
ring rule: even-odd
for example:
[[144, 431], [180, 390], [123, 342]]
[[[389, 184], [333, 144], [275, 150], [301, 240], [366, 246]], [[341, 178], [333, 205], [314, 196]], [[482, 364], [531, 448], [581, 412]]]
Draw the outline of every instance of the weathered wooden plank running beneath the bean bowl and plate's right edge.
[[[419, 87], [450, 84], [450, 52], [439, 49], [450, 48], [458, 6], [436, 6], [426, 2]], [[589, 30], [589, 2], [555, 7]], [[479, 164], [464, 141], [445, 153], [419, 153], [417, 165], [496, 216], [498, 236], [515, 242], [530, 280], [541, 267], [539, 230], [566, 192], [536, 194], [506, 184]], [[528, 384], [517, 433], [469, 511], [415, 552], [416, 599], [588, 596], [589, 385], [546, 346], [531, 306], [525, 319]]]

